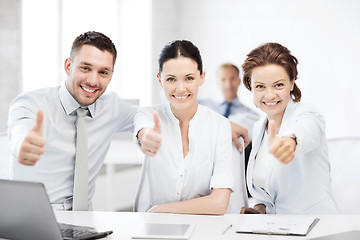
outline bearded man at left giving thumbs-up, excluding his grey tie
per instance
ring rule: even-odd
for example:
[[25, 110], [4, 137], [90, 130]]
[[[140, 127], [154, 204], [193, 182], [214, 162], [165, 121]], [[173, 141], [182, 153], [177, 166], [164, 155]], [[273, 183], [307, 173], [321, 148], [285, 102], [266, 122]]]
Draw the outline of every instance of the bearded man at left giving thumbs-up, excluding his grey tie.
[[42, 182], [54, 209], [73, 207], [77, 109], [88, 110], [88, 209], [113, 135], [133, 130], [136, 107], [105, 92], [116, 55], [115, 45], [104, 34], [81, 34], [65, 61], [65, 83], [22, 93], [10, 106], [11, 176]]

